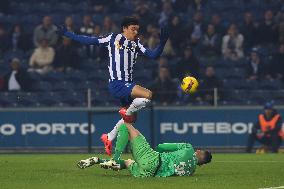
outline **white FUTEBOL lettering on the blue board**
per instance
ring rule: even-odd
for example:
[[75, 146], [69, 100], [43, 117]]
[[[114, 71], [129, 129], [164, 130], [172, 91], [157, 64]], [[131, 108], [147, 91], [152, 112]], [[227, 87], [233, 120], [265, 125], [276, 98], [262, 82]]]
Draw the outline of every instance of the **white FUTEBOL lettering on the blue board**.
[[253, 123], [244, 122], [189, 122], [178, 124], [176, 122], [160, 123], [160, 133], [182, 134], [247, 134], [251, 133]]

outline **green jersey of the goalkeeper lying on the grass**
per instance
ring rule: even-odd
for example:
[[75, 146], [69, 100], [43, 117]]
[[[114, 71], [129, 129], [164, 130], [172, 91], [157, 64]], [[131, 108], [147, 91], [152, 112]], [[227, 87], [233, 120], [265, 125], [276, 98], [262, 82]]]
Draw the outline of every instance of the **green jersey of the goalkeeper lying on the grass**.
[[160, 153], [161, 162], [155, 176], [189, 176], [195, 172], [198, 160], [191, 144], [164, 143], [159, 144], [156, 151]]

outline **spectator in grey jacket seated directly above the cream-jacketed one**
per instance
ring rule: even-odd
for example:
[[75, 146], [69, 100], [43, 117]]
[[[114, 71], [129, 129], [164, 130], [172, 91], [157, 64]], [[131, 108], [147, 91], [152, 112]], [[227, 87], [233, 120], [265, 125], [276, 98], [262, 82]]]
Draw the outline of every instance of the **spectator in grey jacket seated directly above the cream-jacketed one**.
[[44, 16], [42, 24], [37, 26], [34, 30], [34, 45], [39, 47], [42, 39], [48, 41], [48, 44], [54, 47], [57, 43], [56, 26], [52, 23], [52, 18], [50, 16]]

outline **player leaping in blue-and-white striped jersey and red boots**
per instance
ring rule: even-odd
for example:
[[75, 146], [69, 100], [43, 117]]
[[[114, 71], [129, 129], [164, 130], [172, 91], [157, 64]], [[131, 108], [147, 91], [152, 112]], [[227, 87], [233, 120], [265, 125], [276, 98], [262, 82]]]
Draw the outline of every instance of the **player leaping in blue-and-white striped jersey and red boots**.
[[133, 68], [138, 55], [155, 59], [161, 55], [168, 40], [166, 28], [161, 29], [160, 43], [151, 50], [144, 47], [139, 38], [139, 20], [135, 17], [124, 17], [121, 23], [122, 33], [111, 33], [103, 37], [76, 35], [67, 31], [65, 26], [58, 27], [58, 33], [86, 45], [100, 45], [108, 49], [109, 54], [109, 92], [120, 99], [123, 108], [119, 110], [122, 119], [118, 121], [113, 130], [103, 134], [106, 153], [111, 155], [112, 140], [117, 136], [118, 127], [126, 122], [132, 123], [136, 119], [136, 112], [150, 103], [152, 92], [133, 82]]

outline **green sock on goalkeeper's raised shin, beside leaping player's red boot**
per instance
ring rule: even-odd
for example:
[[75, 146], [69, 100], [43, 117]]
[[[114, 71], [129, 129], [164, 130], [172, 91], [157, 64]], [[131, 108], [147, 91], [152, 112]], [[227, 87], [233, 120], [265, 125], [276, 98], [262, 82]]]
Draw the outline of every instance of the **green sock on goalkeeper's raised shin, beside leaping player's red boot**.
[[113, 159], [116, 162], [120, 162], [121, 154], [125, 150], [128, 143], [128, 129], [125, 124], [120, 125], [118, 129], [118, 135], [114, 150]]

